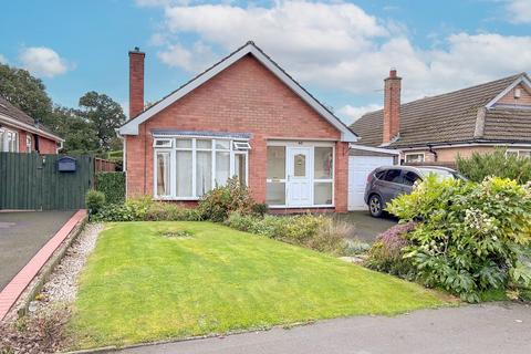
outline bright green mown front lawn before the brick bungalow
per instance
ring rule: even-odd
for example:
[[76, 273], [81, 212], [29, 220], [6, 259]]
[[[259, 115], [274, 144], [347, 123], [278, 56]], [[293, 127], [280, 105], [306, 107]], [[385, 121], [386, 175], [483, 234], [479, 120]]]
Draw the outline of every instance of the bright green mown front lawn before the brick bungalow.
[[[191, 236], [164, 236], [179, 230]], [[88, 259], [71, 329], [91, 347], [441, 304], [417, 284], [220, 225], [123, 222]]]

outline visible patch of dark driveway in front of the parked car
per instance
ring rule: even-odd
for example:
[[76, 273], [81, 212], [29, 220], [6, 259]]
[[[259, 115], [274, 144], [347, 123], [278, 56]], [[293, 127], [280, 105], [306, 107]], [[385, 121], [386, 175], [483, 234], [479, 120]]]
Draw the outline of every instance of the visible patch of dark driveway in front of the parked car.
[[398, 222], [396, 218], [389, 216], [383, 218], [373, 218], [368, 211], [337, 214], [335, 218], [354, 225], [355, 230], [352, 237], [358, 238], [366, 242], [374, 242], [379, 233]]

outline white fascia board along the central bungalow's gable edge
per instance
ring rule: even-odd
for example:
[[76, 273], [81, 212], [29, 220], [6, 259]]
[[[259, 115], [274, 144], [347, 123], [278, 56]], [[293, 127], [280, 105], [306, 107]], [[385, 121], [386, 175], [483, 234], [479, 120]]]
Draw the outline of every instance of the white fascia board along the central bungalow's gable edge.
[[191, 91], [196, 90], [238, 60], [243, 58], [247, 54], [252, 54], [260, 63], [268, 67], [280, 81], [282, 81], [288, 87], [295, 92], [304, 102], [306, 102], [312, 108], [314, 108], [322, 117], [324, 117], [329, 123], [331, 123], [337, 131], [341, 132], [341, 140], [354, 143], [357, 142], [358, 137], [351, 132], [346, 125], [344, 125], [337, 117], [331, 114], [325, 110], [314, 97], [312, 97], [308, 92], [305, 92], [298, 83], [293, 81], [288, 74], [285, 74], [277, 64], [274, 64], [267, 55], [264, 55], [260, 50], [258, 50], [254, 44], [248, 43], [239, 51], [235, 52], [232, 55], [226, 58], [219, 62], [216, 66], [211, 67], [209, 71], [205, 72], [200, 76], [197, 76], [195, 80], [190, 81], [188, 84], [177, 90], [163, 101], [158, 102], [149, 110], [143, 112], [137, 117], [131, 119], [125, 125], [123, 125], [118, 131], [121, 135], [138, 135], [138, 126], [149, 119], [155, 114], [168, 107], [174, 102], [178, 101], [183, 96], [187, 95]]

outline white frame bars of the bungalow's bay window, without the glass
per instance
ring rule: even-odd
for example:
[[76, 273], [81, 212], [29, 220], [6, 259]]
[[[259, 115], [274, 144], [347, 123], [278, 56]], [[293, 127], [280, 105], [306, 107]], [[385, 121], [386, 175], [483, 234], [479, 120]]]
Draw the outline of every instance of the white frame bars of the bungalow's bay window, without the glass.
[[[171, 147], [159, 147], [155, 146], [155, 140], [171, 140]], [[191, 140], [190, 147], [178, 147], [177, 139]], [[210, 147], [198, 147], [197, 140], [210, 140]], [[228, 142], [228, 148], [220, 148], [216, 146], [217, 140]], [[154, 160], [153, 160], [153, 198], [156, 200], [183, 200], [183, 201], [195, 201], [199, 200], [202, 196], [197, 194], [197, 153], [198, 152], [209, 152], [210, 155], [210, 168], [211, 168], [211, 181], [210, 188], [216, 188], [216, 155], [217, 153], [229, 153], [229, 178], [235, 176], [235, 155], [244, 155], [246, 158], [246, 186], [249, 185], [249, 150], [248, 149], [235, 149], [235, 142], [246, 142], [246, 139], [235, 139], [235, 138], [225, 138], [225, 137], [208, 137], [208, 136], [173, 136], [173, 137], [155, 137], [153, 143]], [[168, 196], [158, 196], [157, 195], [157, 168], [156, 168], [156, 158], [157, 153], [169, 152], [170, 153], [170, 195]], [[177, 196], [177, 152], [191, 152], [191, 196]]]

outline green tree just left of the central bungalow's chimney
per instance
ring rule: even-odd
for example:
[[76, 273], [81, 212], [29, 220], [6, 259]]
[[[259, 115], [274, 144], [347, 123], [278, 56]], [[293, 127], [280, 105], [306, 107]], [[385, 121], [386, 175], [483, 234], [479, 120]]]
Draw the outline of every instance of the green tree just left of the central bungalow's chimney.
[[93, 125], [102, 150], [116, 145], [116, 129], [125, 122], [122, 106], [106, 94], [91, 91], [80, 98], [79, 114]]

